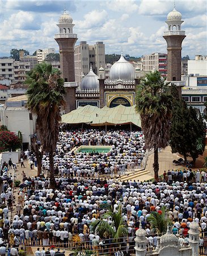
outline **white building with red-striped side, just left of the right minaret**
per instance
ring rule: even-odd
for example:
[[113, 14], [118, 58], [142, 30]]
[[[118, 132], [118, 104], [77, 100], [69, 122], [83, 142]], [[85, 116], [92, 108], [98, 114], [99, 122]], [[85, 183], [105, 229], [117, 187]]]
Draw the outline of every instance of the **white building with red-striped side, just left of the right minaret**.
[[167, 54], [166, 53], [152, 53], [150, 55], [142, 56], [143, 71], [159, 71], [162, 76], [167, 76]]

